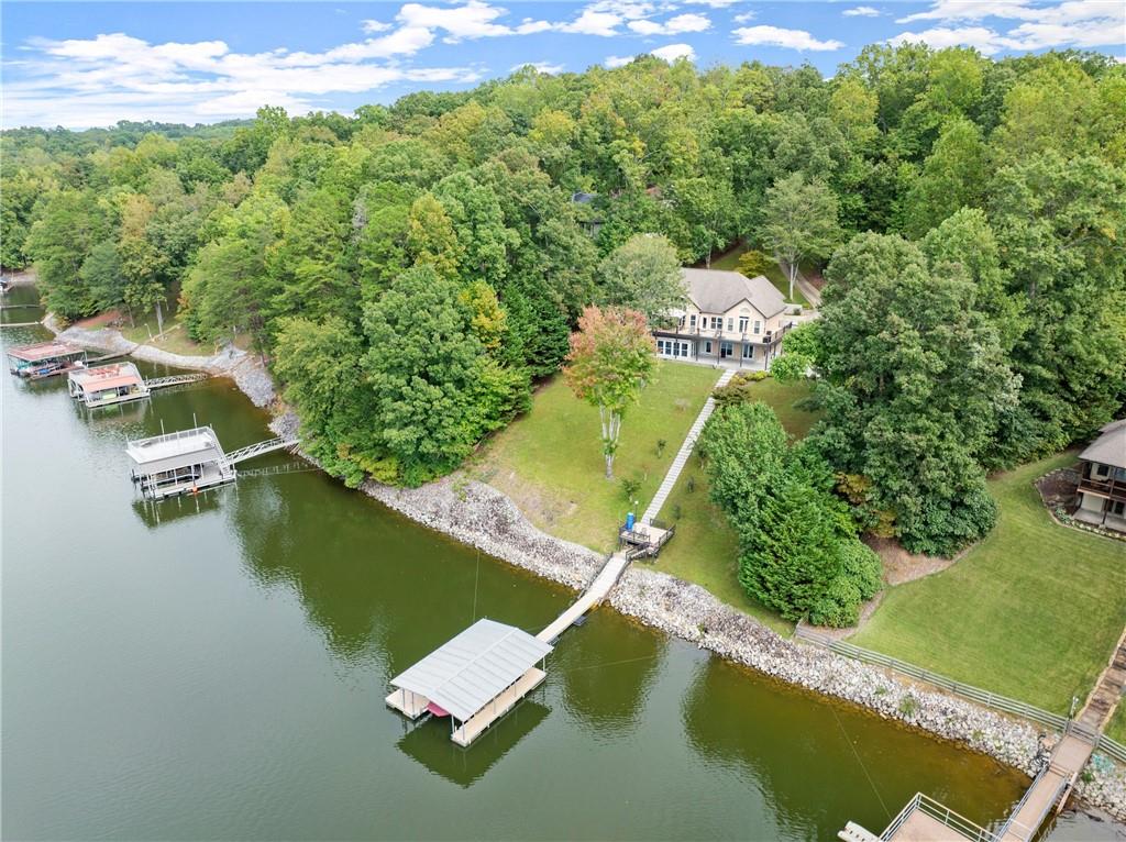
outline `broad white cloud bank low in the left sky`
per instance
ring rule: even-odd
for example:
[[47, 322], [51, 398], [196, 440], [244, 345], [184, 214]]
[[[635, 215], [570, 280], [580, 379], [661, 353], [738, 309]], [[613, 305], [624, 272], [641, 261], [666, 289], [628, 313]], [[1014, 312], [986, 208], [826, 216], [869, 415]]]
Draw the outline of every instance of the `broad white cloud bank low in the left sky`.
[[[234, 53], [221, 41], [150, 44], [124, 33], [33, 39], [19, 75], [5, 84], [3, 125], [107, 125], [119, 119], [197, 122], [242, 117], [262, 105], [294, 113], [324, 107], [330, 93], [360, 93], [394, 82], [472, 82], [468, 68], [387, 63], [429, 44], [427, 29], [322, 53]], [[384, 60], [384, 61], [373, 61]]]

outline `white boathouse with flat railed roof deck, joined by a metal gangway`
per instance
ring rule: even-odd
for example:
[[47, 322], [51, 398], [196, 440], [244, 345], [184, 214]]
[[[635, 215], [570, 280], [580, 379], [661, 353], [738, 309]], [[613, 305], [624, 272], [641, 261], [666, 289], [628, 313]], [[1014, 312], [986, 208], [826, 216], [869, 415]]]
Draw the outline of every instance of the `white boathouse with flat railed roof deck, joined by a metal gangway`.
[[211, 427], [129, 441], [125, 453], [133, 460], [133, 482], [153, 500], [194, 494], [236, 475]]

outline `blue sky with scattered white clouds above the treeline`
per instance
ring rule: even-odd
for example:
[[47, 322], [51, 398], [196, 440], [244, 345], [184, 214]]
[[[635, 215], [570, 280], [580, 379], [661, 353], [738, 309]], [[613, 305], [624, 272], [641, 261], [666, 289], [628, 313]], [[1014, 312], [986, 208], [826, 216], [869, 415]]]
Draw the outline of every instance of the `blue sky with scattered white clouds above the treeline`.
[[7, 0], [0, 23], [5, 127], [211, 123], [263, 104], [349, 113], [527, 63], [581, 71], [646, 52], [701, 66], [810, 62], [825, 75], [882, 41], [965, 44], [991, 56], [1066, 47], [1126, 55], [1123, 0]]

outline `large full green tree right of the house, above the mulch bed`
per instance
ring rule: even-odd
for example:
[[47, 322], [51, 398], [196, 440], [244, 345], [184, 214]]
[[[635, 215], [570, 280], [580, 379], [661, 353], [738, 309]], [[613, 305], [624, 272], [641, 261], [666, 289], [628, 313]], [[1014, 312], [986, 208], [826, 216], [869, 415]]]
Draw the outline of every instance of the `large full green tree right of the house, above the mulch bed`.
[[817, 348], [825, 418], [812, 433], [854, 489], [866, 526], [893, 522], [912, 552], [950, 555], [997, 505], [981, 460], [1017, 380], [964, 269], [931, 271], [897, 236], [861, 234], [829, 266]]

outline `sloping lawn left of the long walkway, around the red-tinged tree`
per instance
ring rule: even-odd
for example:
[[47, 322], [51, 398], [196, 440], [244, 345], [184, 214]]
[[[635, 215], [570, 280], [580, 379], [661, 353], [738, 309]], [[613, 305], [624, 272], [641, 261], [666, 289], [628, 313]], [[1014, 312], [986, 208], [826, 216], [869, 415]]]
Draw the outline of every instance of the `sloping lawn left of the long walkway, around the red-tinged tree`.
[[[536, 392], [527, 415], [488, 442], [472, 471], [540, 529], [609, 552], [632, 508], [620, 480], [641, 481], [640, 516], [718, 378], [713, 368], [662, 361], [622, 423], [615, 482], [604, 475], [598, 410], [579, 401], [561, 376]], [[667, 442], [660, 456], [659, 439]]]

